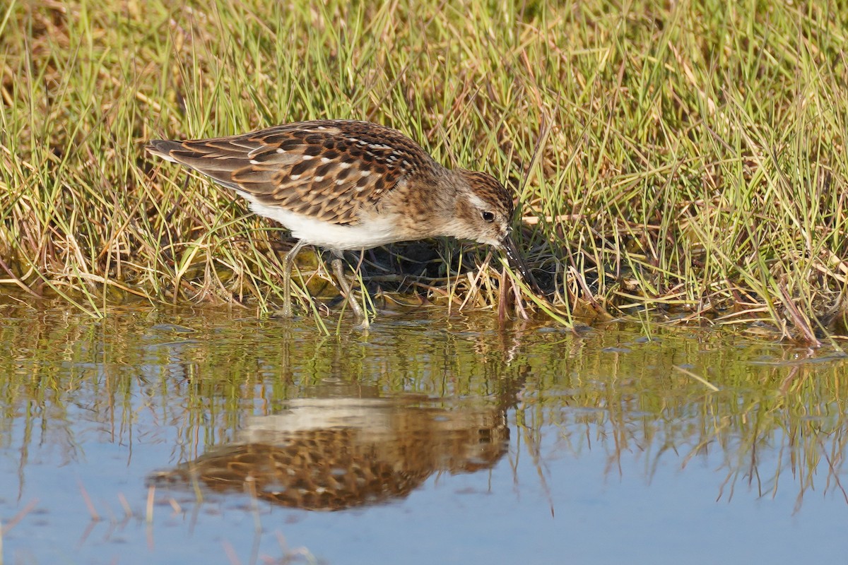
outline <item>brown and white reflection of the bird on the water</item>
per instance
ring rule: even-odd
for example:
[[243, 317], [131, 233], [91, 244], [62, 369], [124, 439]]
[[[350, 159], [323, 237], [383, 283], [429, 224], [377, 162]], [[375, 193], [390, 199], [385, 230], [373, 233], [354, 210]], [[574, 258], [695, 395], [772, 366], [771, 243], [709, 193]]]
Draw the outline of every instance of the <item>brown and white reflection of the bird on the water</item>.
[[508, 444], [505, 407], [495, 402], [304, 398], [284, 413], [252, 418], [235, 442], [149, 479], [341, 510], [403, 498], [434, 473], [492, 468]]

